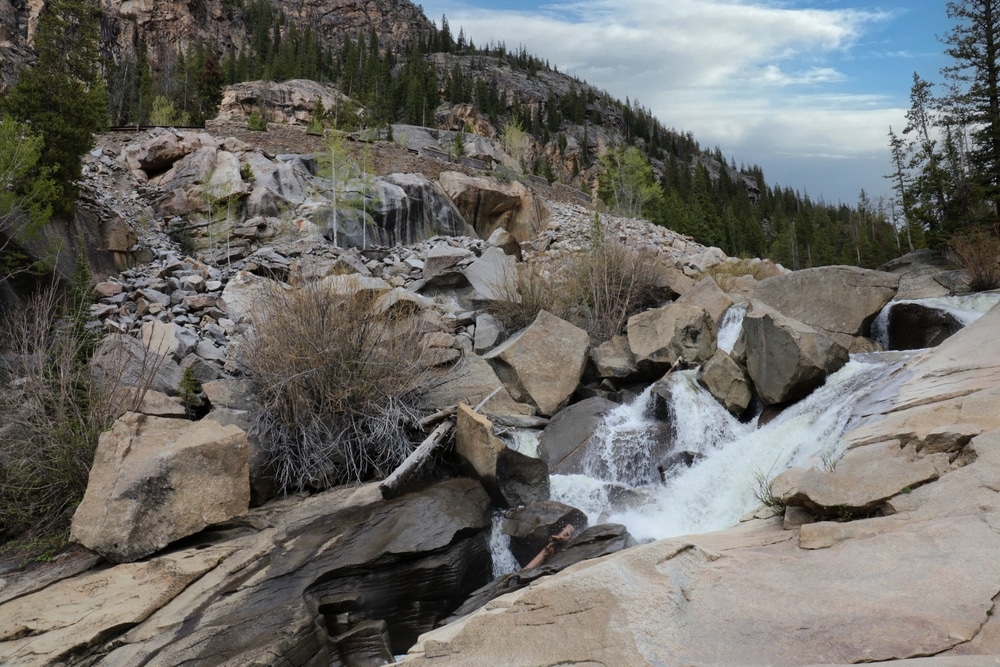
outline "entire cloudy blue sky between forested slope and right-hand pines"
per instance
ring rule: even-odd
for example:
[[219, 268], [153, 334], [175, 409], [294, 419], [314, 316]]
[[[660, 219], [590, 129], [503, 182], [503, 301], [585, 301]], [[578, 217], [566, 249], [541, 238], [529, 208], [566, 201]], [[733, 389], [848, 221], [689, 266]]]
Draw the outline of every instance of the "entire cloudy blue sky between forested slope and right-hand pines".
[[653, 110], [769, 184], [855, 203], [887, 194], [887, 132], [913, 72], [946, 64], [945, 0], [424, 0], [477, 45], [503, 41]]

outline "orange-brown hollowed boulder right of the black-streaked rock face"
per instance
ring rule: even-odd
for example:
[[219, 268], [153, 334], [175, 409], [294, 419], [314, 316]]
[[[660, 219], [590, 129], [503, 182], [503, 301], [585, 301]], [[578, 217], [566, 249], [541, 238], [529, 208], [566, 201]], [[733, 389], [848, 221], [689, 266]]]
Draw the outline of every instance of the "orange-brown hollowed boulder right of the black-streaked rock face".
[[544, 209], [523, 183], [501, 183], [488, 176], [467, 176], [457, 171], [441, 172], [438, 182], [480, 238], [488, 238], [496, 229], [506, 229], [524, 242], [533, 240], [538, 233]]

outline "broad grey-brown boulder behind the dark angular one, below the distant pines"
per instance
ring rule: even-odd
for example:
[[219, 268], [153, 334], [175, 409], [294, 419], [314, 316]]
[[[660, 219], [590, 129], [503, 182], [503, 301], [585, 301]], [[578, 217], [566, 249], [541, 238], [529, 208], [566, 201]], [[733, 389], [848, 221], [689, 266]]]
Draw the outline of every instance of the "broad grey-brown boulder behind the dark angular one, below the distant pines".
[[899, 276], [854, 266], [793, 271], [757, 283], [754, 298], [850, 348], [895, 295]]

